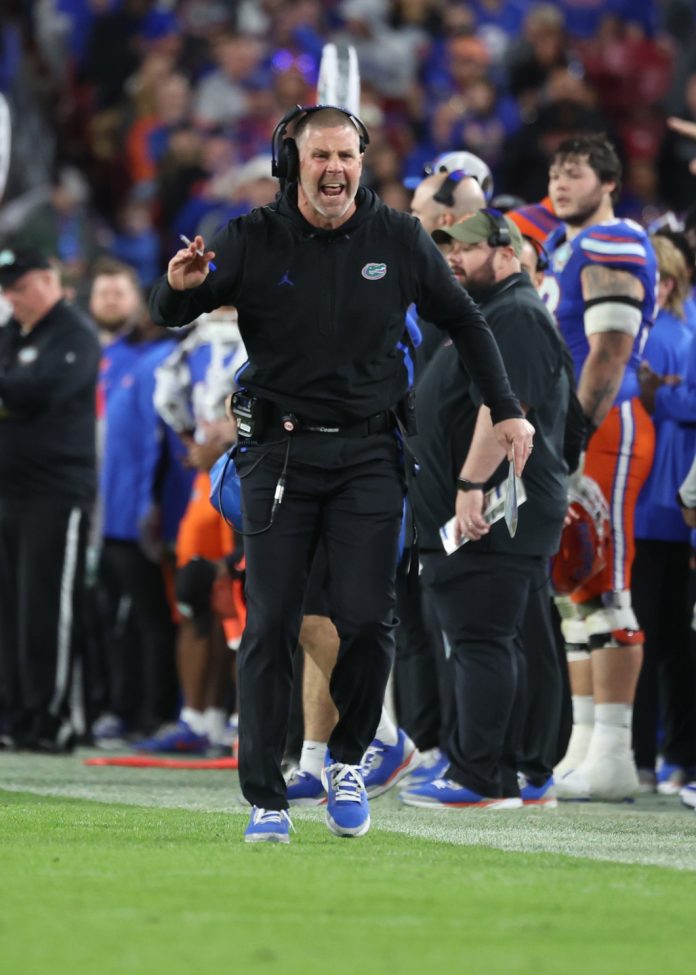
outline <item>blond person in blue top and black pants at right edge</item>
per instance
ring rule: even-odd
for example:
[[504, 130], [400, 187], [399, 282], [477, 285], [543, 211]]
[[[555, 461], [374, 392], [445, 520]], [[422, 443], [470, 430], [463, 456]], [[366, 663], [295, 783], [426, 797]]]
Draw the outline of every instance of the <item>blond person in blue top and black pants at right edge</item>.
[[[670, 240], [655, 236], [653, 245], [660, 269], [659, 314], [644, 356], [653, 374], [674, 377], [684, 371], [693, 344], [684, 313], [689, 270]], [[643, 373], [650, 375], [647, 369]], [[633, 712], [633, 747], [645, 791], [657, 787], [671, 794], [684, 785], [689, 766], [696, 764], [696, 734], [691, 727], [694, 681], [688, 652], [689, 529], [677, 504], [677, 491], [696, 447], [696, 411], [691, 422], [680, 422], [669, 408], [655, 408], [646, 384], [643, 401], [653, 413], [656, 436], [652, 472], [636, 506], [632, 594], [645, 631], [645, 656]], [[658, 700], [664, 740], [656, 775]]]

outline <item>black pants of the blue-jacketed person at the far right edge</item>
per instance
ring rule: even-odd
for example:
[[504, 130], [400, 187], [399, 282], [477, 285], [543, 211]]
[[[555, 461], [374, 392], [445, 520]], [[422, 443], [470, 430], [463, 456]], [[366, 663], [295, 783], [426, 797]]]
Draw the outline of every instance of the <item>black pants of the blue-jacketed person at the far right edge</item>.
[[691, 604], [686, 542], [637, 539], [631, 597], [645, 632], [633, 708], [638, 768], [654, 768], [658, 717], [667, 762], [696, 765], [696, 673], [689, 651]]

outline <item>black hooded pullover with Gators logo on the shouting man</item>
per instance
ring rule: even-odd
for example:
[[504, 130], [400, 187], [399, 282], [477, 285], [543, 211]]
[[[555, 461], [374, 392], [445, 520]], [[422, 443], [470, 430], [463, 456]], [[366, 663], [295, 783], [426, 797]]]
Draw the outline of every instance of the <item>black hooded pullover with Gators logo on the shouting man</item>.
[[216, 271], [150, 297], [153, 321], [180, 326], [234, 305], [249, 361], [238, 382], [301, 418], [350, 423], [390, 409], [408, 377], [397, 348], [415, 302], [449, 332], [493, 421], [521, 416], [498, 347], [466, 291], [413, 217], [361, 187], [337, 230], [308, 223], [294, 185], [270, 206], [231, 220], [206, 246]]

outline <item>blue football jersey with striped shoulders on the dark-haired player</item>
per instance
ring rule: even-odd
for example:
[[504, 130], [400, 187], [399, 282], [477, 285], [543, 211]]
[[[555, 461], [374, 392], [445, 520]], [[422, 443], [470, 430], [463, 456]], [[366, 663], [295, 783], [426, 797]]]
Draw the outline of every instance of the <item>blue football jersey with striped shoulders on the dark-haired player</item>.
[[643, 285], [642, 322], [614, 402], [622, 403], [637, 396], [640, 389], [637, 370], [655, 318], [657, 297], [657, 258], [647, 233], [632, 220], [607, 220], [587, 227], [573, 240], [567, 240], [562, 224], [551, 234], [546, 248], [551, 261], [541, 294], [570, 349], [576, 378], [580, 377], [590, 350], [585, 334], [585, 301], [580, 280], [583, 268], [598, 264], [628, 271]]

